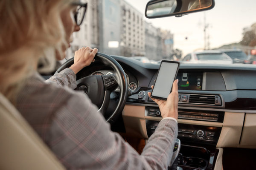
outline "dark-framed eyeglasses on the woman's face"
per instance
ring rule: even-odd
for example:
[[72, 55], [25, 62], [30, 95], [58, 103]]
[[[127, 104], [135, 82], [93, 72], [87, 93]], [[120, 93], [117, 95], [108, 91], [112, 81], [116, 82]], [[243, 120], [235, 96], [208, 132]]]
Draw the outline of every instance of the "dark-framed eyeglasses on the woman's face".
[[87, 9], [87, 3], [73, 2], [72, 5], [77, 6], [74, 14], [76, 25], [81, 26], [84, 20], [84, 15]]

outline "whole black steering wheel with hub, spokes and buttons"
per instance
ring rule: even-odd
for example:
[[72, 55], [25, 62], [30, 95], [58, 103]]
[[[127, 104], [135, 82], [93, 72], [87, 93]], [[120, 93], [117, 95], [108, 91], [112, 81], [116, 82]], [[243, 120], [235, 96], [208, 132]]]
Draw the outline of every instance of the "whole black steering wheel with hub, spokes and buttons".
[[[100, 61], [104, 65], [113, 68], [114, 73], [111, 75], [92, 75], [83, 77], [76, 81], [77, 88], [75, 90], [84, 91], [84, 93], [91, 99], [92, 103], [98, 106], [98, 111], [105, 116], [105, 112], [110, 102], [110, 94], [117, 88], [117, 86], [119, 86], [120, 95], [116, 109], [109, 117], [105, 117], [107, 122], [112, 124], [116, 122], [125, 107], [128, 87], [125, 71], [115, 59], [106, 54], [97, 53], [94, 59], [95, 61]], [[73, 63], [74, 58], [67, 60], [67, 62], [61, 65], [55, 73], [59, 73], [65, 68], [69, 68]], [[83, 69], [82, 71], [86, 71], [86, 69]]]

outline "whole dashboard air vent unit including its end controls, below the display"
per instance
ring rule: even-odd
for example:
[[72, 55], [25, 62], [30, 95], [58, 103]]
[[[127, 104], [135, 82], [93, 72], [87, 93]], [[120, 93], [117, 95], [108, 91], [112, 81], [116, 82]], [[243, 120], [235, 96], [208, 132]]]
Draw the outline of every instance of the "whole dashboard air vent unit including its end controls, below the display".
[[179, 103], [220, 106], [221, 97], [218, 95], [179, 94]]

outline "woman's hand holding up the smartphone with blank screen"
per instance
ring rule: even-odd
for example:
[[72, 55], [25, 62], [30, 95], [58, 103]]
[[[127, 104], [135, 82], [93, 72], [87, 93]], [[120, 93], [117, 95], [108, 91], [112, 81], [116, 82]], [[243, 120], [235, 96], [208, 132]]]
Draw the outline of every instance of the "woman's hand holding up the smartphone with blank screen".
[[[151, 92], [148, 92], [148, 96], [159, 106], [163, 118], [173, 117], [176, 120], [178, 119], [178, 81], [176, 79], [173, 82], [172, 93], [169, 94], [167, 100], [151, 98]], [[151, 88], [153, 88], [153, 85]]]

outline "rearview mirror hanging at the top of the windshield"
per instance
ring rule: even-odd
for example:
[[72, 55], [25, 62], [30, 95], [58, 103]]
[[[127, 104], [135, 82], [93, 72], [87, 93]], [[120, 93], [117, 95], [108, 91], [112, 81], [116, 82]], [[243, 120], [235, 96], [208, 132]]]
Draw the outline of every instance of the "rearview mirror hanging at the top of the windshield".
[[145, 16], [182, 17], [184, 14], [212, 9], [214, 5], [214, 0], [151, 0], [147, 3]]

